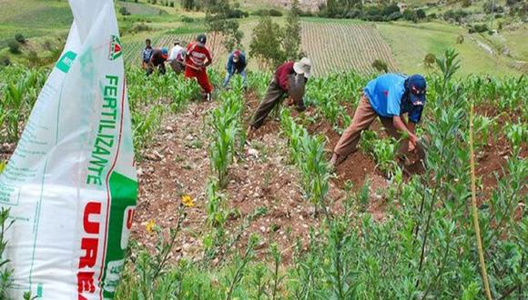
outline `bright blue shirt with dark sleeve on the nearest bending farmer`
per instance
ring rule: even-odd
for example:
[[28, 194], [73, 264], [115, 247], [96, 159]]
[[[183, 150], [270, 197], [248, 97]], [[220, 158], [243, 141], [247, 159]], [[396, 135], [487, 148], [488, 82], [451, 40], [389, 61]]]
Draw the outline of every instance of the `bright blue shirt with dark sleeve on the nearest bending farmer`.
[[372, 109], [381, 116], [392, 117], [409, 114], [412, 123], [419, 123], [423, 105], [412, 105], [405, 93], [406, 76], [386, 74], [371, 80], [364, 89]]

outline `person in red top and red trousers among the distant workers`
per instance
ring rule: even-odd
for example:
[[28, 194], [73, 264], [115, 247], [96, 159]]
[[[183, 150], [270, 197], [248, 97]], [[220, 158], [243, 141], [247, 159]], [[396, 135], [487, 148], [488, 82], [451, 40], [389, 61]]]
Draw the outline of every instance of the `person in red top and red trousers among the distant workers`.
[[187, 78], [196, 78], [198, 85], [204, 90], [205, 99], [210, 101], [213, 86], [209, 82], [206, 68], [212, 64], [213, 58], [208, 47], [206, 47], [207, 41], [206, 35], [198, 35], [197, 41], [187, 46], [185, 76]]

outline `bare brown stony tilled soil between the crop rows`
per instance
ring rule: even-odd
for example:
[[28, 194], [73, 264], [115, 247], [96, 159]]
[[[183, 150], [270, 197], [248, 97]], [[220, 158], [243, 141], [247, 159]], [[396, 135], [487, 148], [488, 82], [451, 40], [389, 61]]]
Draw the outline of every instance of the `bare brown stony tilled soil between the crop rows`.
[[[259, 97], [253, 93], [246, 95], [247, 107], [243, 118], [249, 122], [251, 114], [259, 105]], [[182, 255], [199, 259], [203, 251], [202, 237], [208, 233], [205, 225], [206, 186], [211, 176], [208, 160], [208, 138], [210, 129], [206, 122], [208, 111], [217, 103], [193, 103], [178, 115], [169, 115], [163, 121], [162, 130], [154, 142], [144, 152], [144, 159], [137, 163], [139, 195], [137, 199], [136, 222], [132, 237], [149, 249], [154, 249], [156, 236], [147, 230], [147, 224], [168, 228], [177, 225], [177, 211], [181, 205], [181, 196], [190, 195], [195, 206], [187, 209], [187, 218], [183, 231], [178, 235], [173, 258]], [[315, 114], [309, 108], [305, 114]], [[297, 113], [292, 109], [292, 115]], [[372, 129], [381, 132], [381, 125], [375, 122]], [[331, 150], [337, 144], [340, 135], [331, 125], [322, 120], [309, 125], [310, 134], [322, 134], [326, 137], [326, 151], [329, 159]], [[15, 150], [13, 144], [0, 145], [0, 160], [6, 160]], [[482, 176], [484, 189], [479, 200], [485, 201], [492, 195], [497, 185], [496, 177], [503, 176], [506, 159], [512, 154], [511, 146], [503, 136], [490, 141], [477, 154], [477, 175]], [[523, 147], [522, 157], [526, 157]], [[371, 183], [369, 212], [376, 220], [385, 217], [387, 203], [384, 191], [388, 180], [376, 169], [370, 155], [357, 151], [341, 164], [335, 177], [330, 180], [328, 201], [330, 211], [342, 212], [342, 201], [348, 194], [347, 182], [351, 182], [357, 191], [366, 180]], [[300, 241], [306, 245], [310, 227], [320, 225], [320, 215], [315, 215], [313, 205], [303, 198], [300, 189], [300, 173], [289, 162], [289, 149], [286, 139], [280, 135], [279, 119], [270, 115], [267, 122], [259, 128], [249, 144], [237, 155], [229, 169], [229, 183], [222, 193], [226, 196], [228, 208], [236, 214], [229, 219], [228, 232], [233, 235], [242, 220], [258, 208], [266, 208], [267, 213], [254, 220], [242, 234], [238, 247], [246, 243], [251, 233], [261, 235], [259, 251], [264, 253], [270, 243], [279, 244], [283, 258], [289, 262], [293, 245]]]

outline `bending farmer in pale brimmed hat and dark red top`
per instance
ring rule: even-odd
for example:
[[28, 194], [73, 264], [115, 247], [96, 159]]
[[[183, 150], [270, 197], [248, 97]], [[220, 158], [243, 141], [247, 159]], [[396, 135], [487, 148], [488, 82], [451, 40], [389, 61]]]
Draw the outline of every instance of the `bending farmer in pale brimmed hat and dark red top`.
[[306, 57], [302, 58], [297, 63], [288, 62], [284, 65], [280, 65], [279, 68], [277, 68], [275, 76], [273, 76], [273, 80], [271, 80], [271, 83], [269, 83], [268, 91], [266, 92], [262, 102], [260, 102], [255, 115], [253, 115], [253, 121], [251, 122], [251, 125], [249, 125], [249, 138], [254, 133], [254, 131], [259, 129], [259, 127], [264, 123], [264, 119], [266, 119], [273, 107], [279, 104], [284, 95], [290, 95], [289, 105], [293, 105], [295, 103], [299, 110], [304, 110], [305, 107], [303, 95], [296, 95], [298, 93], [290, 90], [289, 81], [292, 78], [298, 78], [291, 75], [302, 76], [303, 85], [301, 86], [301, 94], [304, 94], [304, 84], [306, 84], [308, 78], [310, 78], [310, 71], [311, 62], [310, 59]]

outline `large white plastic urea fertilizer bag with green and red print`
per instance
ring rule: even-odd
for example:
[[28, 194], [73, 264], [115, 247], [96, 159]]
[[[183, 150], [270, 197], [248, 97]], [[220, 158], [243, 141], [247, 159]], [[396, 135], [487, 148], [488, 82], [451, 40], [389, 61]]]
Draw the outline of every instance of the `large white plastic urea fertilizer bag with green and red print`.
[[109, 299], [132, 225], [137, 177], [112, 0], [69, 0], [74, 23], [0, 175], [11, 208], [13, 299]]

